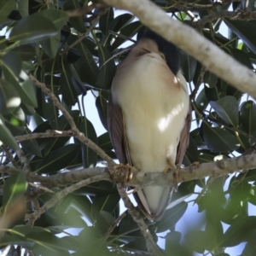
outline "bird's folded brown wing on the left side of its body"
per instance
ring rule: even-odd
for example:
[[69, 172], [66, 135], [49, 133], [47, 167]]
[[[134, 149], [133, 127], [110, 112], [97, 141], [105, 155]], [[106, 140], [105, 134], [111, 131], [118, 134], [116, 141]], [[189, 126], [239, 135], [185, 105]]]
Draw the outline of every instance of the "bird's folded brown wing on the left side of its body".
[[113, 102], [111, 92], [108, 98], [108, 132], [119, 163], [131, 165], [122, 109], [117, 103]]

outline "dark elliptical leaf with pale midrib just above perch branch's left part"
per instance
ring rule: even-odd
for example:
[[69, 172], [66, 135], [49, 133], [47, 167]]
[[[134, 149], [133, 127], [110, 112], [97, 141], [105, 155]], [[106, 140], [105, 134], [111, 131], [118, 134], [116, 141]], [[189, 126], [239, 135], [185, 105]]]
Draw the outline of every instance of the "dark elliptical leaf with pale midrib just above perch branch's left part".
[[69, 144], [50, 152], [38, 164], [36, 172], [53, 173], [66, 168], [73, 161], [79, 149], [79, 145]]

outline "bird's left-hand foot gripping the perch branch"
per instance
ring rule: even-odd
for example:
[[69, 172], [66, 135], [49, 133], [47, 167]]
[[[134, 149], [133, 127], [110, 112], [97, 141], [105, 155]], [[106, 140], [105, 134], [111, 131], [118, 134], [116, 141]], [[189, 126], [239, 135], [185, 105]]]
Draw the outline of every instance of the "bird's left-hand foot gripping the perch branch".
[[126, 184], [129, 183], [132, 178], [133, 167], [128, 164], [115, 165], [113, 166], [111, 174], [113, 182], [122, 183], [126, 187]]

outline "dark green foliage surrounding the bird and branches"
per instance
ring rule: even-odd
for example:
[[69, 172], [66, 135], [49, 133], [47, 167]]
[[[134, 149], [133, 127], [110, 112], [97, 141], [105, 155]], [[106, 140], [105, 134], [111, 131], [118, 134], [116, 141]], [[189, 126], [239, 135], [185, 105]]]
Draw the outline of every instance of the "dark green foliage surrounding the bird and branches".
[[[93, 93], [95, 102], [91, 108], [96, 107], [102, 126], [107, 130], [108, 92], [116, 65], [128, 51], [129, 46], [124, 43], [131, 43], [130, 38], [142, 34], [144, 26], [132, 14], [114, 14], [113, 8], [67, 15], [67, 11], [88, 7], [89, 2], [0, 0], [0, 32], [3, 32], [0, 36], [0, 160], [1, 167], [12, 166], [6, 158], [9, 153], [19, 167], [19, 171], [10, 174], [0, 172], [0, 254], [9, 245], [9, 256], [17, 255], [21, 248], [32, 253], [30, 255], [43, 256], [147, 252], [145, 239], [131, 215], [126, 214], [117, 222], [120, 197], [115, 184], [108, 181], [90, 183], [69, 193], [37, 218], [33, 226], [27, 218], [24, 222], [25, 214], [37, 212], [37, 207], [43, 207], [55, 193], [70, 184], [49, 188], [43, 184], [50, 190], [35, 189], [29, 184], [34, 181], [26, 180], [22, 170], [24, 163], [20, 163], [15, 153], [20, 148], [37, 177], [90, 168], [102, 161], [95, 151], [71, 137], [37, 137], [16, 142], [17, 136], [71, 129], [65, 115], [29, 79], [29, 72], [61, 101], [79, 131], [115, 158], [108, 131], [97, 134], [93, 120], [85, 114], [91, 109], [84, 109], [82, 102], [87, 100], [84, 97], [87, 93]], [[178, 9], [178, 5], [170, 7], [172, 1], [153, 2], [189, 25], [192, 22], [183, 9], [193, 11], [196, 4], [209, 5], [207, 0], [189, 0], [178, 3], [183, 5], [183, 9]], [[214, 2], [217, 7], [214, 5], [212, 9], [199, 9], [196, 17], [200, 19], [229, 8], [244, 9], [244, 1], [232, 3], [231, 7], [217, 2]], [[195, 6], [191, 5], [193, 3]], [[253, 2], [249, 1], [247, 8], [254, 11]], [[97, 15], [100, 15], [98, 26], [91, 29]], [[208, 22], [201, 27], [201, 32], [236, 61], [253, 69], [256, 64], [255, 20], [224, 18], [224, 23], [229, 27], [229, 38], [221, 34], [221, 20]], [[4, 34], [5, 29], [8, 36]], [[127, 50], [121, 52], [123, 48]], [[195, 120], [183, 164], [189, 166], [197, 161], [205, 163], [253, 152], [255, 102], [205, 71], [201, 63], [183, 50], [180, 56], [183, 75], [192, 90], [201, 85], [192, 101]], [[255, 181], [256, 169], [213, 181], [203, 178], [181, 183], [172, 196], [172, 207], [163, 218], [156, 223], [145, 219], [148, 231], [154, 241], [161, 238], [160, 247], [164, 248], [165, 255], [228, 256], [226, 249], [245, 242], [241, 256], [253, 256], [256, 254]], [[200, 193], [206, 186], [206, 191]], [[38, 194], [33, 195], [32, 191]], [[9, 212], [18, 211], [18, 202], [24, 207], [25, 199], [26, 212], [21, 209], [19, 216], [2, 227], [2, 219]], [[195, 207], [197, 212], [191, 210]]]

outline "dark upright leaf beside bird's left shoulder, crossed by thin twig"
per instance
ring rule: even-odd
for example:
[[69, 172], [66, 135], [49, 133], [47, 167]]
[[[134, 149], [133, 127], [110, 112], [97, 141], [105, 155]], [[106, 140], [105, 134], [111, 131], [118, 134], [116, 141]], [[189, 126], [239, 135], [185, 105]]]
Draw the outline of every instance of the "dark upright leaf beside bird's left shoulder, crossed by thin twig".
[[96, 86], [99, 88], [109, 89], [112, 84], [113, 75], [116, 67], [108, 49], [99, 45], [99, 64], [100, 69], [97, 74]]

